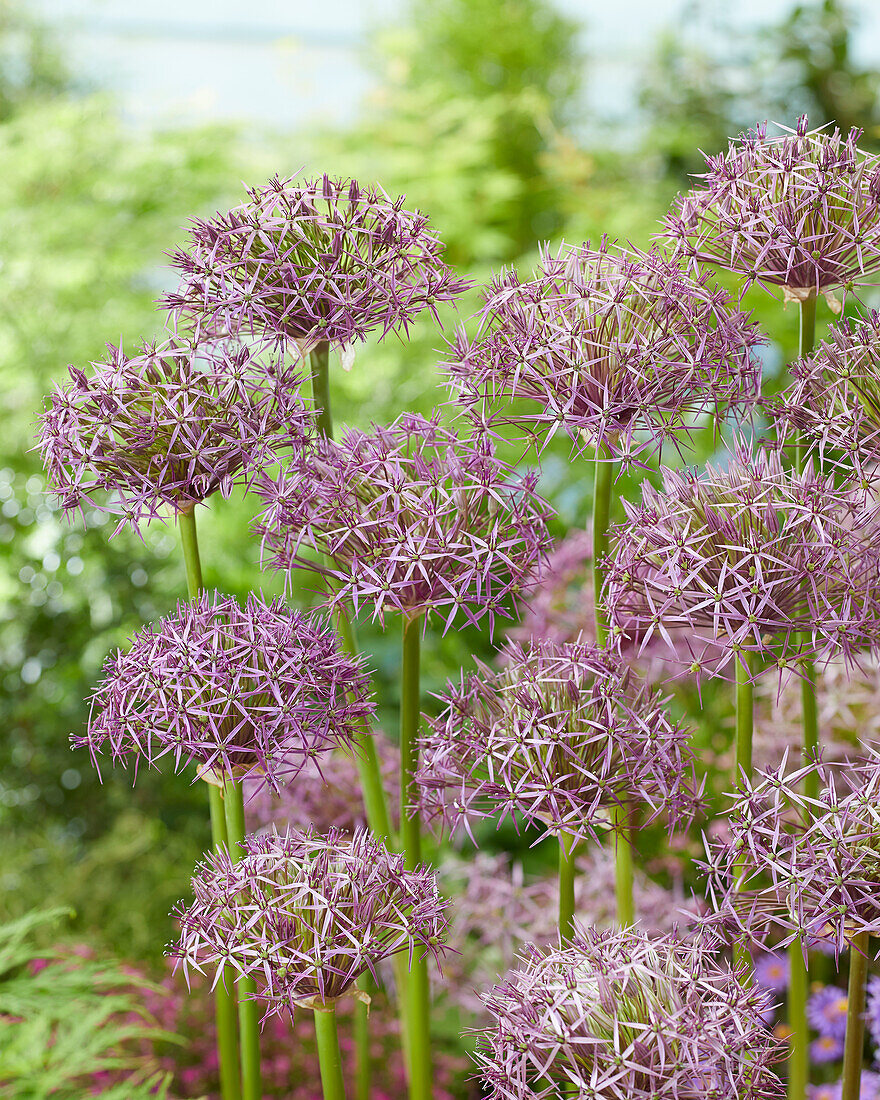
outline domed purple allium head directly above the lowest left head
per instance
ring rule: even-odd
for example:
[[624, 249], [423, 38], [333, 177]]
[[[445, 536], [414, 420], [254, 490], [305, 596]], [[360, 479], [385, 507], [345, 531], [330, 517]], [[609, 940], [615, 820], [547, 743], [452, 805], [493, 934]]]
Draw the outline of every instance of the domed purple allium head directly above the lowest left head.
[[89, 728], [92, 760], [153, 765], [170, 756], [210, 778], [252, 777], [274, 790], [308, 761], [350, 744], [370, 716], [369, 681], [320, 618], [205, 593], [108, 658]]

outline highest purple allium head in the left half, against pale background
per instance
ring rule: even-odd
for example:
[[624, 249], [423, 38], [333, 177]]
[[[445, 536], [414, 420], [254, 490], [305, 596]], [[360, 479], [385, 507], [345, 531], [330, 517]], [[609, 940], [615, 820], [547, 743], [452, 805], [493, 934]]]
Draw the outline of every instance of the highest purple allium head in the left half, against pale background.
[[271, 179], [228, 213], [196, 220], [168, 308], [217, 331], [268, 334], [300, 349], [407, 329], [469, 284], [440, 260], [420, 213], [353, 179]]

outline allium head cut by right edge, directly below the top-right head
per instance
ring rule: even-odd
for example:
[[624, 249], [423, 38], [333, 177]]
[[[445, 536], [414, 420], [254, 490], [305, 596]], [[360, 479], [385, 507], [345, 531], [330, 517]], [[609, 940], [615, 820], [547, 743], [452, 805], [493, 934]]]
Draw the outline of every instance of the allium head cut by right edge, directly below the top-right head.
[[793, 427], [821, 462], [862, 480], [880, 463], [880, 314], [831, 329], [815, 354], [791, 365], [793, 384], [776, 415]]

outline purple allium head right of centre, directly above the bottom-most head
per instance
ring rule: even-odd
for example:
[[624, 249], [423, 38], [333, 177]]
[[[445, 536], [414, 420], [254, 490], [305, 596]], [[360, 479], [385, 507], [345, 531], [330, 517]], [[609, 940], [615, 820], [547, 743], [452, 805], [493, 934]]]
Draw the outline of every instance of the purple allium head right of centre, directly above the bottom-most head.
[[637, 799], [670, 826], [697, 805], [685, 729], [614, 653], [578, 642], [509, 644], [504, 667], [462, 675], [429, 718], [417, 774], [422, 809], [452, 827], [509, 815], [597, 838]]

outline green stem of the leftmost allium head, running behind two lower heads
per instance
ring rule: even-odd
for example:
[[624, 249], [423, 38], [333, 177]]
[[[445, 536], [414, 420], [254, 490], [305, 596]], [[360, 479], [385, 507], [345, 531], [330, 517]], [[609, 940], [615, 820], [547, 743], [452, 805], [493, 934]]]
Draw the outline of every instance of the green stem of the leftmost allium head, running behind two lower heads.
[[[177, 514], [180, 546], [186, 569], [186, 591], [190, 600], [202, 591], [201, 559], [194, 510]], [[206, 783], [211, 807], [211, 843], [215, 851], [228, 846], [223, 793], [215, 783]], [[241, 1100], [241, 1064], [239, 1062], [239, 1025], [235, 1008], [235, 983], [229, 967], [213, 993], [217, 1023], [217, 1056], [220, 1060], [220, 1096], [222, 1100]]]

